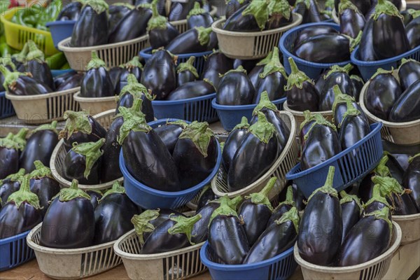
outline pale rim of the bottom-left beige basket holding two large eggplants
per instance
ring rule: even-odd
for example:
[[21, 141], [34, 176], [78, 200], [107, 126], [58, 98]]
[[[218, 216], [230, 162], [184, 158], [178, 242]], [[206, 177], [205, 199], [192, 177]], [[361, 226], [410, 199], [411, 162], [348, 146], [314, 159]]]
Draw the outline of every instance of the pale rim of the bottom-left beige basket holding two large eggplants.
[[50, 255], [79, 255], [82, 253], [90, 253], [94, 251], [99, 251], [104, 248], [112, 248], [113, 244], [116, 243], [116, 240], [106, 242], [104, 244], [99, 245], [93, 245], [83, 248], [75, 248], [75, 249], [59, 249], [59, 248], [50, 248], [41, 246], [39, 244], [36, 244], [35, 241], [32, 239], [34, 235], [36, 235], [38, 232], [41, 232], [41, 226], [42, 223], [39, 223], [38, 225], [33, 228], [29, 234], [27, 235], [27, 244], [30, 248], [32, 248], [35, 252], [41, 252], [41, 253], [47, 253]]

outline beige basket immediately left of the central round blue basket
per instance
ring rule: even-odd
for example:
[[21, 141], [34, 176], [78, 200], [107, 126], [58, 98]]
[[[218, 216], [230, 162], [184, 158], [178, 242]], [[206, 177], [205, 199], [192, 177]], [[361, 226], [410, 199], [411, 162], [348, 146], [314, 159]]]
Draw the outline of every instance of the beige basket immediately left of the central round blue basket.
[[[96, 119], [107, 130], [112, 123], [112, 118], [114, 115], [115, 109], [99, 113], [93, 116], [93, 118]], [[61, 175], [64, 158], [66, 158], [66, 148], [64, 148], [64, 140], [61, 139], [57, 146], [55, 146], [54, 151], [52, 151], [50, 168], [52, 176], [55, 180], [57, 180], [59, 185], [62, 186], [62, 188], [69, 188], [71, 186], [71, 181], [64, 179]], [[106, 190], [111, 188], [115, 181], [123, 182], [123, 179], [124, 178], [121, 177], [120, 179], [107, 183], [101, 183], [97, 185], [79, 185], [78, 187], [82, 190]]]

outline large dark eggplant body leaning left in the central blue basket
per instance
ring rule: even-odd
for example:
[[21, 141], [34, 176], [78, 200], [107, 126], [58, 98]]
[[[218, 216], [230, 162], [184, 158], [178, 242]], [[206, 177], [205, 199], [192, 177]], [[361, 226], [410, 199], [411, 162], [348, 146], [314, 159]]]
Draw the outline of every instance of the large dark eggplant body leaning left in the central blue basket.
[[125, 166], [137, 181], [156, 190], [181, 190], [178, 168], [154, 130], [148, 133], [131, 131], [124, 140], [123, 155]]

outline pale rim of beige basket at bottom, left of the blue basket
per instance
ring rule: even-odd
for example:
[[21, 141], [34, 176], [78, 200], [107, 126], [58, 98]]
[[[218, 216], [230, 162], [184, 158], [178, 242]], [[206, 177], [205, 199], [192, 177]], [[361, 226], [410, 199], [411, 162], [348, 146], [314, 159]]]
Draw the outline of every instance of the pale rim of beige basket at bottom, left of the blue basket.
[[205, 241], [199, 244], [195, 244], [192, 246], [188, 246], [186, 248], [181, 248], [174, 251], [169, 251], [165, 253], [155, 253], [155, 254], [134, 254], [134, 253], [126, 253], [120, 248], [120, 244], [125, 241], [128, 237], [132, 235], [136, 235], [135, 230], [130, 230], [130, 232], [126, 232], [125, 235], [118, 238], [115, 244], [113, 245], [113, 250], [120, 258], [128, 259], [128, 260], [158, 260], [160, 258], [169, 258], [173, 257], [174, 255], [181, 255], [183, 253], [188, 253], [197, 250], [197, 248], [201, 248]]

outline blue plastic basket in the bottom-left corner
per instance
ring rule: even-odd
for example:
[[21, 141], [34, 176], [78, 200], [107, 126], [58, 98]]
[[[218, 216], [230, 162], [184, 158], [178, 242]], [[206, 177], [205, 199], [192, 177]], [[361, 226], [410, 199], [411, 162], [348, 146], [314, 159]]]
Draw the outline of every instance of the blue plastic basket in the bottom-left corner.
[[0, 239], [0, 271], [22, 265], [35, 257], [34, 250], [27, 245], [30, 230], [20, 235]]

